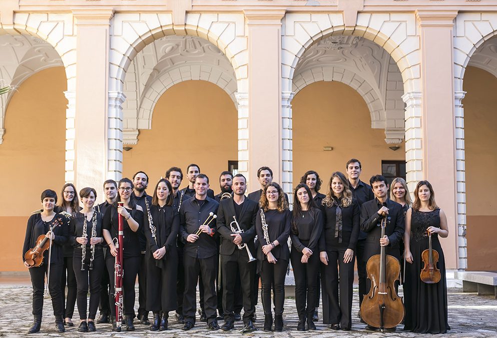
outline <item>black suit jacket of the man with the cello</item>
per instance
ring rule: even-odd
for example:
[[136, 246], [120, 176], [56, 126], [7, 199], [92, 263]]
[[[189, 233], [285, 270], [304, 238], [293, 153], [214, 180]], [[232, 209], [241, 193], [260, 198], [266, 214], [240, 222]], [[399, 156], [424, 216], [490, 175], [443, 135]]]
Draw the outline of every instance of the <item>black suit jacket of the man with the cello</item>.
[[[386, 254], [400, 258], [399, 242], [404, 235], [404, 214], [402, 205], [390, 199], [386, 201], [388, 208], [387, 224], [385, 234], [390, 240], [386, 249]], [[378, 215], [378, 210], [381, 205], [378, 200], [364, 202], [361, 206], [361, 230], [367, 233], [366, 242], [364, 245], [364, 261], [380, 253], [380, 238], [381, 238], [381, 219], [382, 216]]]

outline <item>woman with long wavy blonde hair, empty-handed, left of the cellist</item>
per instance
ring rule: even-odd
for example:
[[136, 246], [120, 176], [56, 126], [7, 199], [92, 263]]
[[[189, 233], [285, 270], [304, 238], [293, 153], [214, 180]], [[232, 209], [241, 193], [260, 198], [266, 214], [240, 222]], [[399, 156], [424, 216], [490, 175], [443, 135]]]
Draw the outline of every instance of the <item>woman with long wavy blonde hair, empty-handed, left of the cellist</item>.
[[[321, 210], [324, 222], [319, 240], [320, 258], [324, 264], [321, 269], [323, 323], [331, 324], [334, 330], [350, 330], [360, 208], [359, 202], [352, 198], [348, 179], [341, 172], [331, 174]], [[325, 296], [327, 301], [324, 301]]]

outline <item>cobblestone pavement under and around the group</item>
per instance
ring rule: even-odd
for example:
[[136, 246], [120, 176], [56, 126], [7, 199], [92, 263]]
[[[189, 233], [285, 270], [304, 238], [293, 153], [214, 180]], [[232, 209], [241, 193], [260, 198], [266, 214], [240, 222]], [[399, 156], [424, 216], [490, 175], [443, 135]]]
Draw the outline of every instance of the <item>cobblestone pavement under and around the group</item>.
[[[137, 290], [138, 296], [138, 290]], [[138, 299], [136, 304], [138, 304]], [[491, 297], [477, 296], [474, 293], [462, 293], [460, 289], [449, 289], [448, 292], [448, 321], [451, 330], [443, 336], [451, 337], [492, 337], [497, 336], [497, 300]], [[31, 314], [31, 287], [24, 284], [0, 284], [0, 336], [2, 337], [21, 337], [26, 336], [26, 332], [32, 321]], [[64, 337], [80, 337], [81, 333], [77, 331], [79, 324], [75, 321], [75, 326], [68, 328], [65, 333], [57, 333], [54, 330], [54, 316], [52, 315], [52, 303], [50, 296], [47, 296], [44, 303], [44, 320], [42, 322], [42, 330], [34, 336], [64, 336]], [[354, 291], [354, 306], [353, 314], [358, 310], [357, 289]], [[75, 314], [78, 313], [77, 310]], [[319, 313], [321, 316], [321, 313]], [[172, 316], [172, 314], [171, 314]], [[263, 318], [262, 306], [259, 300], [257, 306], [257, 317]], [[359, 337], [369, 335], [371, 337], [380, 336], [399, 336], [399, 337], [414, 337], [415, 333], [403, 332], [399, 326], [396, 332], [380, 333], [368, 332], [364, 330], [364, 324], [359, 322], [359, 319], [354, 315], [354, 323], [352, 330], [332, 331], [327, 325], [317, 323], [316, 331], [299, 332], [296, 330], [297, 313], [295, 309], [295, 299], [288, 297], [285, 300], [284, 322], [285, 327], [283, 332], [263, 332], [262, 320], [256, 321], [256, 326], [260, 328], [254, 334], [246, 334], [253, 337], [328, 337], [328, 336], [352, 336]], [[222, 322], [220, 323], [222, 324]], [[136, 331], [133, 332], [112, 332], [110, 324], [97, 324], [97, 332], [84, 333], [88, 337], [231, 337], [242, 336], [239, 330], [243, 324], [241, 321], [236, 322], [235, 330], [225, 332], [222, 330], [209, 331], [206, 329], [204, 322], [197, 321], [196, 326], [190, 331], [182, 331], [181, 325], [176, 323], [173, 318], [170, 320], [170, 329], [163, 332], [152, 332], [148, 327], [140, 325], [135, 320]]]

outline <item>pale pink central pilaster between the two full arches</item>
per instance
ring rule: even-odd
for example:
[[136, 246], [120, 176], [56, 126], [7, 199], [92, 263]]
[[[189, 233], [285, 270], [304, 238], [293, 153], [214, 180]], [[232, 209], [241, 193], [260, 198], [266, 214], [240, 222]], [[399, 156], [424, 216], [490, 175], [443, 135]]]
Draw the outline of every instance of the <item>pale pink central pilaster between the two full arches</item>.
[[273, 180], [283, 179], [281, 109], [281, 19], [284, 10], [244, 11], [248, 28], [248, 173], [249, 191], [259, 188], [257, 169], [268, 166]]

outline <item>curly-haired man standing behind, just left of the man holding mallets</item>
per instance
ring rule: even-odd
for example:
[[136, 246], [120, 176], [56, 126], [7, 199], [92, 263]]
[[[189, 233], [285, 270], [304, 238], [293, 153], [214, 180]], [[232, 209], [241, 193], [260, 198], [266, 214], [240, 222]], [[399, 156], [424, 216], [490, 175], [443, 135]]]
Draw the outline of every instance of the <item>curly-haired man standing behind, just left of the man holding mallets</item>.
[[[185, 195], [184, 192], [178, 190], [183, 180], [183, 172], [181, 168], [171, 167], [166, 171], [166, 179], [171, 183], [173, 187], [173, 208], [174, 210], [180, 210], [181, 204], [186, 200], [191, 198]], [[178, 234], [178, 240], [176, 241], [176, 246], [178, 248], [178, 281], [176, 282], [176, 300], [178, 307], [176, 308], [176, 320], [180, 324], [185, 323], [185, 317], [183, 316], [183, 294], [185, 293], [185, 268], [183, 266], [183, 248], [185, 243]]]

